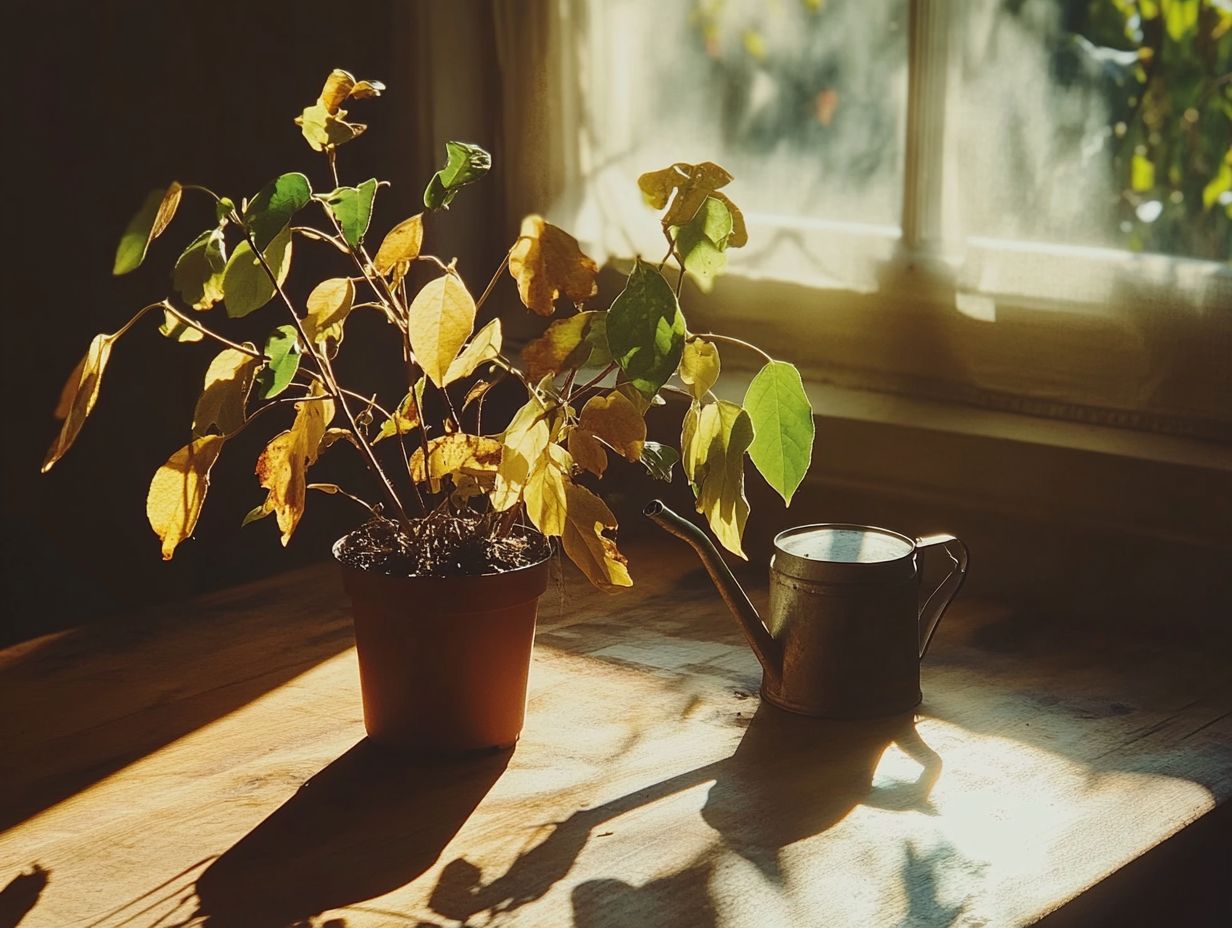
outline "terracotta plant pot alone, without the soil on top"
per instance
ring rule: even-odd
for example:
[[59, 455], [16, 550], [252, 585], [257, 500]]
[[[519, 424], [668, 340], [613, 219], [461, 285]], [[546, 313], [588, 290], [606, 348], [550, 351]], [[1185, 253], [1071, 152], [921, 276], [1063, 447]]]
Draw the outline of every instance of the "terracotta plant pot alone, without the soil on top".
[[340, 566], [368, 737], [431, 754], [511, 747], [526, 716], [549, 558], [477, 577], [389, 577]]

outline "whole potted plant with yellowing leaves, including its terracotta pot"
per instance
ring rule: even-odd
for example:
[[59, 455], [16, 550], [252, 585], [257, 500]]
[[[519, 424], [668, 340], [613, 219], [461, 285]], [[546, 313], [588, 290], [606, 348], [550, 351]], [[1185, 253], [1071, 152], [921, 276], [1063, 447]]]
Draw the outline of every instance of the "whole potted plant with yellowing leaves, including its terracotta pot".
[[[699, 511], [743, 557], [744, 455], [790, 502], [809, 462], [812, 412], [795, 367], [738, 339], [686, 327], [684, 277], [708, 287], [726, 250], [747, 238], [740, 211], [721, 191], [731, 180], [722, 168], [674, 164], [639, 179], [648, 203], [663, 212], [667, 251], [657, 265], [634, 261], [610, 307], [586, 307], [598, 293], [598, 266], [540, 216], [522, 221], [476, 299], [456, 261], [423, 248], [460, 190], [488, 173], [490, 158], [476, 145], [448, 142], [446, 164], [424, 191], [424, 211], [370, 248], [384, 184], [344, 185], [338, 152], [365, 128], [344, 106], [382, 90], [334, 70], [296, 120], [324, 155], [328, 190], [314, 191], [304, 174], [290, 173], [240, 202], [179, 182], [149, 195], [121, 238], [117, 275], [143, 263], [182, 196], [208, 197], [217, 222], [176, 259], [177, 297], [143, 307], [90, 343], [62, 392], [55, 414], [63, 423], [43, 471], [68, 451], [94, 408], [113, 345], [147, 314], [160, 318], [172, 341], [217, 343], [191, 440], [150, 482], [147, 515], [163, 557], [192, 534], [211, 468], [228, 442], [257, 423], [290, 418], [256, 461], [265, 498], [244, 523], [274, 516], [286, 545], [308, 490], [344, 494], [365, 508], [367, 520], [338, 541], [334, 555], [354, 603], [368, 733], [419, 751], [504, 747], [522, 725], [551, 540], [596, 587], [631, 584], [616, 519], [591, 489], [610, 458], [664, 481], [680, 461]], [[304, 248], [319, 249], [323, 261], [333, 254], [338, 271], [297, 301], [283, 283], [292, 251]], [[665, 276], [669, 263], [674, 282]], [[414, 264], [429, 265], [434, 276], [413, 292]], [[525, 307], [519, 312], [554, 317], [516, 360], [490, 313], [506, 272]], [[346, 322], [360, 309], [388, 323], [391, 354], [400, 355], [405, 371], [397, 402], [356, 392], [335, 375]], [[281, 315], [264, 344], [219, 332], [218, 317], [257, 311]], [[719, 344], [765, 361], [743, 404], [712, 392]], [[519, 385], [525, 403], [494, 429], [484, 399], [499, 381]], [[690, 403], [679, 454], [647, 440], [646, 413], [669, 392]], [[367, 492], [309, 482], [312, 466], [335, 444], [362, 458]]]

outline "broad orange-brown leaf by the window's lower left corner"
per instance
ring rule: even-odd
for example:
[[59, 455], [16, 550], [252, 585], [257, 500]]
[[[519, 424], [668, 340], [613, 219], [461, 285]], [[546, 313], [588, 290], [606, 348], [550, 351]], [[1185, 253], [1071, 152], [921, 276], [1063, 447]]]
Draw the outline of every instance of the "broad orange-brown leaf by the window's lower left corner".
[[599, 292], [599, 265], [578, 248], [578, 239], [542, 216], [522, 219], [522, 230], [509, 253], [509, 272], [517, 281], [522, 306], [551, 315], [562, 295], [574, 303]]

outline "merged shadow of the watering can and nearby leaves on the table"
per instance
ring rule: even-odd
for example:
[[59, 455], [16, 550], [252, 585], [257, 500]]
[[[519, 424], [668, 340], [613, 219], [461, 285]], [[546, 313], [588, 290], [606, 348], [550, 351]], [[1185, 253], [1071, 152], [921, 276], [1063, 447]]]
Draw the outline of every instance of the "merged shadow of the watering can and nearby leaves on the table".
[[[898, 744], [920, 765], [920, 775], [910, 783], [875, 786], [877, 763], [891, 744]], [[719, 848], [753, 864], [766, 882], [781, 886], [788, 877], [781, 861], [784, 848], [821, 834], [857, 805], [931, 813], [929, 792], [940, 774], [941, 758], [920, 738], [910, 714], [834, 722], [763, 704], [731, 757], [573, 812], [494, 879], [484, 880], [482, 870], [466, 858], [452, 860], [441, 873], [430, 906], [457, 922], [469, 922], [479, 913], [493, 919], [513, 912], [541, 898], [563, 879], [601, 826], [708, 781], [712, 785], [701, 815], [717, 832]], [[573, 891], [575, 924], [641, 928], [654, 922], [650, 914], [664, 911], [660, 903], [668, 897], [675, 900], [674, 911], [681, 911], [687, 900], [694, 923], [713, 923], [706, 889], [712, 866], [713, 855], [702, 855], [643, 886], [620, 880], [583, 882]]]

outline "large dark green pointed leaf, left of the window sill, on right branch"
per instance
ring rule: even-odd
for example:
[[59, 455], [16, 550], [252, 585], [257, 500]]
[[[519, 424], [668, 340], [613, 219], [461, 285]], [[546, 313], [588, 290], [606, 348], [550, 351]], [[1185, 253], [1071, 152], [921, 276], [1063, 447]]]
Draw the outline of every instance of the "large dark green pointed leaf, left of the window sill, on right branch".
[[653, 265], [638, 259], [607, 312], [607, 348], [637, 389], [653, 396], [676, 371], [685, 346], [685, 317], [676, 295]]

